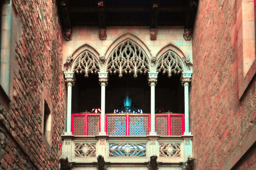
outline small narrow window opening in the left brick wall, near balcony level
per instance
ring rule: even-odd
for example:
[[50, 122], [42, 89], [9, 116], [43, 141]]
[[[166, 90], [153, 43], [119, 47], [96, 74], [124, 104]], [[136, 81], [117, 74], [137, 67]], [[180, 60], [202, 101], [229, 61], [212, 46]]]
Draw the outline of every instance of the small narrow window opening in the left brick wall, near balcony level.
[[51, 138], [51, 114], [47, 102], [44, 100], [44, 137], [50, 143]]

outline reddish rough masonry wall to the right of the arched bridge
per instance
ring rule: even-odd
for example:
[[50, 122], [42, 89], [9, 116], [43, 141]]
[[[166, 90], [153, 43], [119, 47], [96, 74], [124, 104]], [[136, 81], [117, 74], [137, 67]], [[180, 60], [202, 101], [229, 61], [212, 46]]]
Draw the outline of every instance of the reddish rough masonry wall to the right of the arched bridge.
[[[190, 93], [196, 170], [223, 168], [231, 155], [236, 156], [234, 151], [256, 124], [255, 76], [239, 100], [240, 5], [241, 1], [236, 0], [199, 0], [193, 30], [194, 71]], [[253, 159], [255, 154], [245, 153], [236, 169], [249, 170], [242, 167]]]

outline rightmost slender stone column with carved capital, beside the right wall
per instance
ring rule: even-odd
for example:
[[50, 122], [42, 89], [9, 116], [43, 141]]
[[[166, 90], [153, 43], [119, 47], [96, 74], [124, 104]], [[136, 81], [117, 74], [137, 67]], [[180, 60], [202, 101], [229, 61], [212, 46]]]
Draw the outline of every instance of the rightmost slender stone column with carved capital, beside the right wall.
[[191, 135], [189, 132], [189, 82], [191, 81], [192, 72], [183, 72], [181, 75], [181, 82], [184, 85], [185, 96], [185, 132], [184, 135]]

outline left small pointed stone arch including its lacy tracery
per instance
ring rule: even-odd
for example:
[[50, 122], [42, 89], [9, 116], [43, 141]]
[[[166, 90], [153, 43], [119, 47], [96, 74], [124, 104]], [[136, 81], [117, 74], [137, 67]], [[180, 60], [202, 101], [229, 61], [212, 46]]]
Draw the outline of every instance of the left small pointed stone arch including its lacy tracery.
[[88, 77], [89, 73], [102, 71], [99, 57], [99, 51], [89, 43], [84, 43], [67, 58], [64, 64], [64, 72], [84, 73], [85, 77]]

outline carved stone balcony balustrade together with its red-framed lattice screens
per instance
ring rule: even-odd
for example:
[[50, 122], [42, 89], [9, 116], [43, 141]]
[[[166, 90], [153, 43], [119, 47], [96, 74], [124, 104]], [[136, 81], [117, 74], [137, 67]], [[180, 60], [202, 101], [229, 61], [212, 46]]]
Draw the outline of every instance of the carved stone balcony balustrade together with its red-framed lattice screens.
[[179, 165], [192, 154], [192, 136], [183, 135], [183, 114], [156, 114], [159, 135], [149, 135], [147, 113], [106, 114], [107, 135], [99, 135], [100, 114], [73, 114], [71, 120], [73, 135], [62, 136], [63, 156], [74, 164], [93, 164], [101, 154], [109, 164], [145, 164], [157, 155], [162, 164]]

